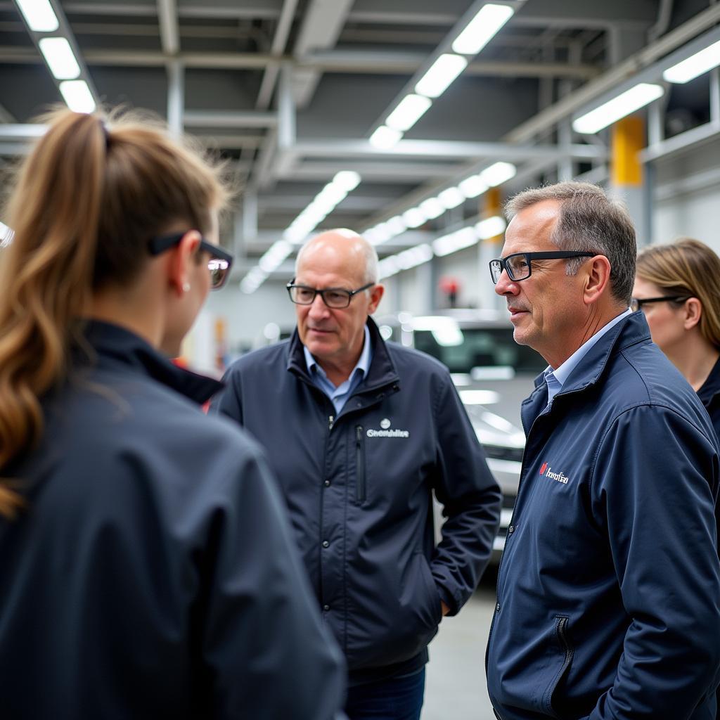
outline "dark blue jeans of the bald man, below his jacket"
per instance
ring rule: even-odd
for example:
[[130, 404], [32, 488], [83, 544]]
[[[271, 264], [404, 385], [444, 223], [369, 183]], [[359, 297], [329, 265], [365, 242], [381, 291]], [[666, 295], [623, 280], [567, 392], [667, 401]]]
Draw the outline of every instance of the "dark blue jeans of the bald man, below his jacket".
[[348, 690], [349, 720], [420, 720], [425, 695], [425, 668], [406, 678], [356, 685]]

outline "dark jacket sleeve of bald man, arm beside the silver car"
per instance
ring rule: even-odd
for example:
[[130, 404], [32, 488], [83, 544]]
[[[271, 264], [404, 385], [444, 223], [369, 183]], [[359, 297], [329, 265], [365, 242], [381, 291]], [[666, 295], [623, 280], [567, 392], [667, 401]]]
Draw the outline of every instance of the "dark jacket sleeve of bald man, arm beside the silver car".
[[433, 405], [438, 454], [433, 483], [447, 520], [431, 570], [454, 615], [472, 595], [492, 552], [503, 496], [449, 377]]

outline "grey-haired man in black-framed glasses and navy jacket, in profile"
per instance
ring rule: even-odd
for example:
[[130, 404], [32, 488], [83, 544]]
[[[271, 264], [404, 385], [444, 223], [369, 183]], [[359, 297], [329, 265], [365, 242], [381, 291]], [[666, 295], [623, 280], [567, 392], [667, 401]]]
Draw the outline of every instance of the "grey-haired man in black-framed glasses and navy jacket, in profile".
[[635, 233], [597, 186], [508, 203], [490, 262], [516, 342], [549, 367], [523, 402], [518, 498], [487, 686], [502, 720], [709, 720], [720, 667], [719, 450], [629, 302]]

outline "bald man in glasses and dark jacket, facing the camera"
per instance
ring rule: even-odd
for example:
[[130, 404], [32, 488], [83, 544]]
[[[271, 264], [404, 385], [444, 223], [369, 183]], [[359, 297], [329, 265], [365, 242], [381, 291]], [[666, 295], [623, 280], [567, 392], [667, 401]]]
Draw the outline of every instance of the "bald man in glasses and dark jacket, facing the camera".
[[[312, 238], [287, 290], [294, 335], [240, 358], [216, 407], [279, 479], [345, 652], [348, 717], [418, 720], [428, 642], [490, 558], [500, 490], [446, 367], [386, 343], [370, 318], [383, 287], [364, 238]], [[437, 547], [433, 490], [447, 517]]]

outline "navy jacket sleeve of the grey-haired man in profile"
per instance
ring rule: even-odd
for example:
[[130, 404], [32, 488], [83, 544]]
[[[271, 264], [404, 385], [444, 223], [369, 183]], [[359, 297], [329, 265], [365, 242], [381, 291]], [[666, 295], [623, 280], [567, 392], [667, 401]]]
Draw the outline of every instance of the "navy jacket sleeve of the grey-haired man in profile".
[[714, 443], [672, 410], [626, 411], [603, 438], [591, 501], [607, 528], [629, 627], [592, 720], [682, 720], [714, 688], [717, 483]]

